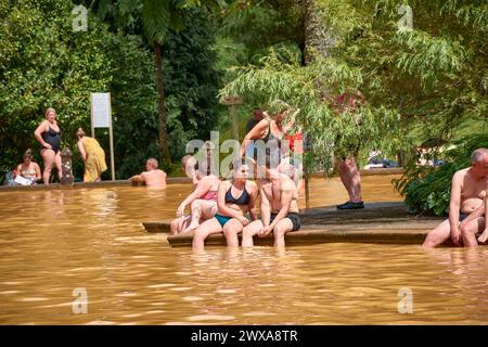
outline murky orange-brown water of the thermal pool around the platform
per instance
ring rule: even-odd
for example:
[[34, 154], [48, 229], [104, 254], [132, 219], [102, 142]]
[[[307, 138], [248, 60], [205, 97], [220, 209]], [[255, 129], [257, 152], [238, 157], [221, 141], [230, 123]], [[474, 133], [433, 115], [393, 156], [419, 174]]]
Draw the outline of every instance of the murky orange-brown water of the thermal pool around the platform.
[[[364, 177], [364, 200], [398, 200], [390, 179]], [[311, 206], [347, 200], [337, 180], [311, 187]], [[0, 193], [0, 323], [488, 323], [488, 247], [171, 249], [140, 223], [172, 217], [189, 189]]]

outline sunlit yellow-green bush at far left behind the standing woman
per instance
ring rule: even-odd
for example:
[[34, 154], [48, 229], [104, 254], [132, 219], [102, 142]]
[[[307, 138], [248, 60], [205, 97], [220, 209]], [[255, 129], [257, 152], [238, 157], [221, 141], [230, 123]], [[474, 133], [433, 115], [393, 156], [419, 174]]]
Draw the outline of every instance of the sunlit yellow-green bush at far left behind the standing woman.
[[74, 33], [70, 1], [0, 1], [0, 171], [12, 169], [40, 145], [34, 130], [47, 107], [59, 115], [63, 146], [89, 119], [89, 92], [108, 89], [112, 64], [103, 53], [105, 26], [90, 17], [90, 30]]

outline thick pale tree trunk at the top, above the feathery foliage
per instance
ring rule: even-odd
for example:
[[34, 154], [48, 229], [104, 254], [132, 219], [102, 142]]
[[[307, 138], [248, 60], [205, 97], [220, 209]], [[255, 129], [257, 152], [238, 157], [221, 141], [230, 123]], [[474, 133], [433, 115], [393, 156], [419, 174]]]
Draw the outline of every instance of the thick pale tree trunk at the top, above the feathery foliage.
[[323, 23], [322, 13], [325, 10], [316, 0], [305, 0], [305, 65], [311, 63], [313, 53], [329, 55], [329, 49], [335, 44], [332, 33]]

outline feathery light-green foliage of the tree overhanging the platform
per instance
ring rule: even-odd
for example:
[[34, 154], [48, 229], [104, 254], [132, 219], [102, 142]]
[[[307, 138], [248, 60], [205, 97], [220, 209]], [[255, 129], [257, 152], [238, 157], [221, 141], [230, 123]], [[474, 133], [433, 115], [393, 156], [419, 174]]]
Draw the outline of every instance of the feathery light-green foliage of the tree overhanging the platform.
[[[299, 107], [301, 126], [313, 138], [312, 156], [325, 160], [325, 166], [331, 162], [323, 158], [331, 151], [343, 155], [357, 143], [363, 151], [410, 152], [419, 139], [449, 141], [466, 121], [486, 121], [488, 41], [480, 39], [487, 31], [486, 2], [313, 3], [323, 29], [334, 38], [328, 57], [316, 53], [312, 64], [303, 66], [293, 54], [272, 49], [258, 62], [233, 67], [222, 98], [243, 93], [252, 100], [282, 99]], [[400, 4], [412, 8], [412, 30], [398, 26]], [[259, 11], [260, 5], [255, 7]], [[335, 97], [357, 90], [365, 97], [361, 107], [341, 116], [331, 110]]]

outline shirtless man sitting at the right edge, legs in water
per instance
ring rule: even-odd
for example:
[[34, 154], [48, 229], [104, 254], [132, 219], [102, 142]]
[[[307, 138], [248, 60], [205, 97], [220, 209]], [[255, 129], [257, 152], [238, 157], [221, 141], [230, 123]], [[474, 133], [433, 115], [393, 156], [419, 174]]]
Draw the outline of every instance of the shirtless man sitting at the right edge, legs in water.
[[485, 229], [485, 197], [488, 183], [488, 150], [471, 155], [471, 167], [452, 177], [449, 219], [432, 230], [423, 247], [432, 248], [451, 237], [457, 246], [476, 246], [476, 233]]

